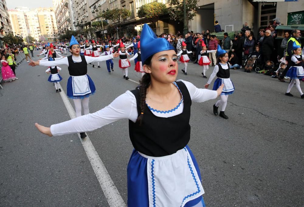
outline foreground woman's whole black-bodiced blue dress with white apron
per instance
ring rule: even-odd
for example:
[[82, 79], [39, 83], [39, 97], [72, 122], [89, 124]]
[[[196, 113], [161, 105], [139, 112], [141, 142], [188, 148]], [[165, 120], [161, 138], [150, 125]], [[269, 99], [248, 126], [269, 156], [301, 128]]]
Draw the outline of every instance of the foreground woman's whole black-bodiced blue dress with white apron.
[[[191, 130], [191, 97], [183, 82], [174, 84], [182, 96], [178, 106], [170, 111], [157, 111], [146, 104], [142, 124], [129, 121], [134, 146], [127, 167], [130, 207], [205, 206], [199, 167], [187, 145]], [[139, 90], [131, 92], [140, 115]], [[181, 114], [164, 115], [177, 110], [182, 102]], [[164, 117], [156, 116], [152, 111]]]

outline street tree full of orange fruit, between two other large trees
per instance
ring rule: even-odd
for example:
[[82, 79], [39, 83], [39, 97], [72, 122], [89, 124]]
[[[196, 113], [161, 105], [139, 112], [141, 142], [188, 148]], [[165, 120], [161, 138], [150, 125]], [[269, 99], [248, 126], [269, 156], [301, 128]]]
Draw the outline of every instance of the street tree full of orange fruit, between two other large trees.
[[142, 5], [137, 12], [137, 16], [139, 18], [147, 18], [152, 23], [154, 29], [159, 16], [166, 13], [168, 13], [168, 9], [165, 4], [152, 2], [150, 4]]

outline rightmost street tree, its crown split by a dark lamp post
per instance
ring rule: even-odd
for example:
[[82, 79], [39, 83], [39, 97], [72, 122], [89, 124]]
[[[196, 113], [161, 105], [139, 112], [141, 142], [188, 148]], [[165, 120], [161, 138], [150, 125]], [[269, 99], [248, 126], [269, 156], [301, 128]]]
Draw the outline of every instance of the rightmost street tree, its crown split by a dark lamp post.
[[[186, 3], [186, 22], [187, 29], [189, 28], [189, 21], [193, 20], [196, 16], [196, 10], [198, 9], [198, 0], [185, 0]], [[170, 16], [174, 21], [184, 22], [184, 4], [180, 0], [170, 1], [171, 10], [169, 12]]]

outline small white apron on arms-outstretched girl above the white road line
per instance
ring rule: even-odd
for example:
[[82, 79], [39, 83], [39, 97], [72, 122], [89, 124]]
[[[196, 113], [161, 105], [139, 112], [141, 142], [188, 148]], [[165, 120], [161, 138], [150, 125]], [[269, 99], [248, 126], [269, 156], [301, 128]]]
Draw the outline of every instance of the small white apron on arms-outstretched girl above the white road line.
[[72, 76], [73, 96], [83, 96], [91, 93], [87, 75]]

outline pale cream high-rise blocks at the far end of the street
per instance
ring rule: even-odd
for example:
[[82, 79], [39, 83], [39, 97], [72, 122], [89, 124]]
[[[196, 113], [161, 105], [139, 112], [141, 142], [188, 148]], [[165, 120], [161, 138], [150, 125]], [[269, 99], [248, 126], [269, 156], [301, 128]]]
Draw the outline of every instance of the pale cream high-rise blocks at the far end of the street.
[[30, 35], [35, 40], [52, 40], [58, 34], [57, 22], [53, 8], [38, 8], [30, 10], [27, 7], [16, 7], [9, 10], [14, 35], [26, 37]]

